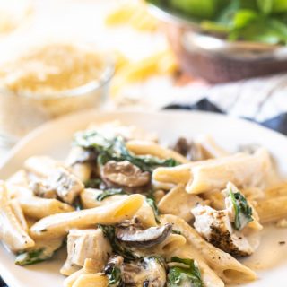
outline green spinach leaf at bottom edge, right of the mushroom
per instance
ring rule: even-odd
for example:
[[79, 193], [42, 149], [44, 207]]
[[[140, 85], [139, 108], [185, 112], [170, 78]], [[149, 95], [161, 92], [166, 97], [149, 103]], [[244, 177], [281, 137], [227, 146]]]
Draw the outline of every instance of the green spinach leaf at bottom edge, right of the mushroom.
[[170, 262], [179, 263], [180, 265], [170, 266], [167, 284], [168, 287], [204, 287], [200, 271], [194, 260], [171, 257]]

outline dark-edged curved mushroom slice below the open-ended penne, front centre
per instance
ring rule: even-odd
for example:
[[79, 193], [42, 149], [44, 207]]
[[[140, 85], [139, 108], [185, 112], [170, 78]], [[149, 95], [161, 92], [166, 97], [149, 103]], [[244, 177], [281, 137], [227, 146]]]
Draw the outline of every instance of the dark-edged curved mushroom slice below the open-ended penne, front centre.
[[122, 242], [134, 248], [151, 248], [160, 244], [171, 232], [172, 225], [167, 223], [161, 227], [151, 227], [141, 230], [138, 226], [117, 226], [116, 236]]

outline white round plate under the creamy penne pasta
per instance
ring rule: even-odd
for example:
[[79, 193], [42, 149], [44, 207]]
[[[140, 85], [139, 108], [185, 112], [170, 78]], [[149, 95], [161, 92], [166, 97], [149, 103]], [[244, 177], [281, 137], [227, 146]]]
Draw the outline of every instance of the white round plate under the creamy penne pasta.
[[[40, 127], [21, 143], [0, 166], [0, 178], [7, 178], [22, 166], [32, 155], [47, 154], [64, 159], [75, 131], [91, 122], [119, 119], [126, 124], [142, 126], [160, 135], [163, 143], [175, 141], [178, 136], [192, 138], [199, 134], [213, 135], [218, 143], [229, 151], [239, 144], [258, 143], [272, 152], [281, 174], [287, 177], [287, 138], [262, 126], [247, 121], [203, 112], [169, 111], [161, 113], [99, 113], [88, 111], [63, 117]], [[268, 227], [257, 253], [245, 259], [248, 266], [256, 268], [258, 280], [244, 286], [286, 287], [287, 286], [287, 230]], [[14, 256], [0, 246], [0, 274], [10, 287], [57, 287], [62, 286], [64, 276], [58, 270], [63, 258], [28, 267], [13, 264]]]

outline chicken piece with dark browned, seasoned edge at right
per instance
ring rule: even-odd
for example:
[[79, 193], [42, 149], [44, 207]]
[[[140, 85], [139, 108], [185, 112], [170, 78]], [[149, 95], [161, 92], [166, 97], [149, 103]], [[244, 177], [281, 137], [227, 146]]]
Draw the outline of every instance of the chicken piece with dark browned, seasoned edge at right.
[[245, 257], [254, 252], [248, 239], [232, 229], [228, 210], [216, 211], [210, 206], [197, 205], [192, 213], [196, 218], [196, 231], [213, 246], [234, 257]]

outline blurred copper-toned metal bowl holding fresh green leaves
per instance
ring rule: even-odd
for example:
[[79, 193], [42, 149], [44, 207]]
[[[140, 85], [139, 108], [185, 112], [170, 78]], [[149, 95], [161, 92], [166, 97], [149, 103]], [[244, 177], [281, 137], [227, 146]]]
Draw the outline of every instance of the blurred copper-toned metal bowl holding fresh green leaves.
[[163, 23], [181, 68], [211, 83], [238, 81], [287, 71], [287, 48], [208, 35], [196, 22], [149, 4]]

